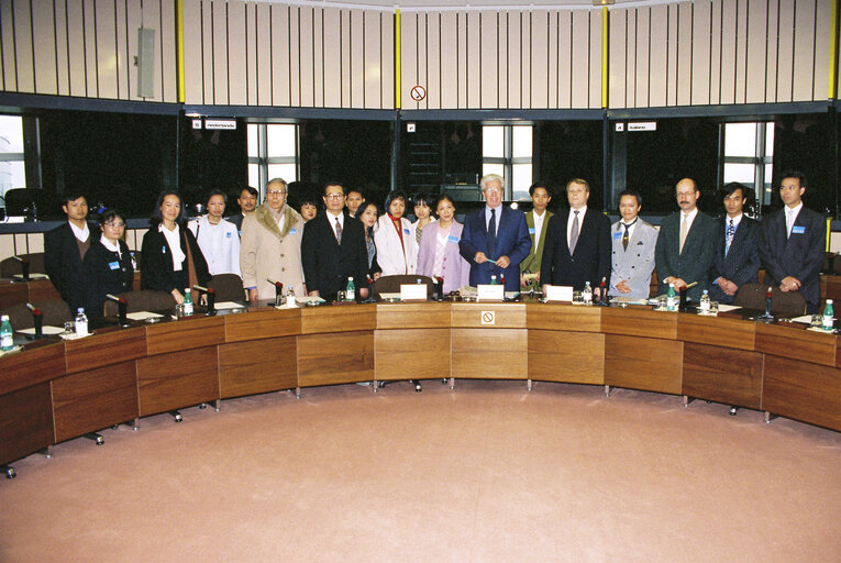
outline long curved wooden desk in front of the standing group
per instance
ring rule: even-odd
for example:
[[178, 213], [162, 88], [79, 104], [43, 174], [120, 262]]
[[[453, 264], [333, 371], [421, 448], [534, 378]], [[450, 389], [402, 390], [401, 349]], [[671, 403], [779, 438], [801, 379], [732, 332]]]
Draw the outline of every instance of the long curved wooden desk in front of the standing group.
[[418, 377], [628, 387], [841, 430], [838, 346], [792, 325], [538, 302], [263, 308], [104, 329], [0, 357], [0, 463], [200, 402]]

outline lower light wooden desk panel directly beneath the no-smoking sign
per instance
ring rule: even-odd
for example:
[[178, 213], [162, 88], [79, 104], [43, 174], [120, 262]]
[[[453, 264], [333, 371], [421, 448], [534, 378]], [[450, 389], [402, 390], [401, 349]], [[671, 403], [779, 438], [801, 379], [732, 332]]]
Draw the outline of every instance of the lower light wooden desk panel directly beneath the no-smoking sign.
[[[524, 317], [523, 310], [523, 317]], [[478, 314], [478, 311], [476, 311]], [[453, 329], [453, 377], [528, 379], [525, 329]]]

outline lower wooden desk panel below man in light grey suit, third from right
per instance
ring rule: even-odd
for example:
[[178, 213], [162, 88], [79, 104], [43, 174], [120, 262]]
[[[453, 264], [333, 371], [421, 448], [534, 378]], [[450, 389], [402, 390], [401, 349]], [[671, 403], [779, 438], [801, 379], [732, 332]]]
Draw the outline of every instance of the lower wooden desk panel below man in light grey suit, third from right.
[[607, 334], [605, 384], [679, 395], [683, 352], [683, 342]]

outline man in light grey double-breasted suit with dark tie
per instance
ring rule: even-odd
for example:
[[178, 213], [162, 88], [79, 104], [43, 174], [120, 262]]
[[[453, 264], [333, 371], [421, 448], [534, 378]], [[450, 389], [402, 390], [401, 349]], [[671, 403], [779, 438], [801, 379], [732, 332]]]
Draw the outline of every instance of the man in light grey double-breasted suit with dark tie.
[[651, 291], [657, 230], [640, 219], [640, 209], [642, 196], [638, 191], [627, 189], [619, 194], [619, 214], [622, 219], [610, 227], [610, 295], [613, 297], [645, 299]]

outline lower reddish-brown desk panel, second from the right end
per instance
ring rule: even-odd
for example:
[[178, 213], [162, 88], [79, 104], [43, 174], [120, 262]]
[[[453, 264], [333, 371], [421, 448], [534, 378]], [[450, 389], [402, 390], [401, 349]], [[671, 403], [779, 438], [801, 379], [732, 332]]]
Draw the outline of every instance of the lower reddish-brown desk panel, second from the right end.
[[762, 408], [763, 355], [687, 342], [683, 394], [750, 409]]

